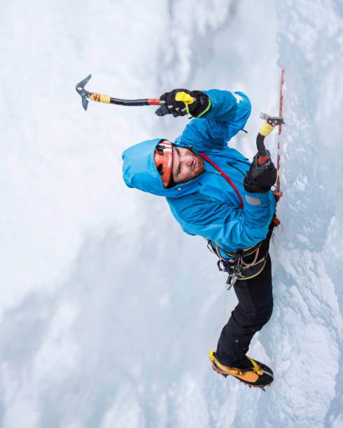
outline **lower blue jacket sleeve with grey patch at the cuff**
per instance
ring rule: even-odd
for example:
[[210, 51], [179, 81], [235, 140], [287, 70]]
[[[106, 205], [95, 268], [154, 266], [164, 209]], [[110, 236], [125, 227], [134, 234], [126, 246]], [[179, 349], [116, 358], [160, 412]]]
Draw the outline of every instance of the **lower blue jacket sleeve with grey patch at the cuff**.
[[199, 194], [168, 198], [168, 202], [183, 231], [216, 241], [228, 251], [250, 248], [262, 241], [275, 211], [275, 199], [270, 192], [247, 193], [243, 209], [204, 195], [200, 198]]

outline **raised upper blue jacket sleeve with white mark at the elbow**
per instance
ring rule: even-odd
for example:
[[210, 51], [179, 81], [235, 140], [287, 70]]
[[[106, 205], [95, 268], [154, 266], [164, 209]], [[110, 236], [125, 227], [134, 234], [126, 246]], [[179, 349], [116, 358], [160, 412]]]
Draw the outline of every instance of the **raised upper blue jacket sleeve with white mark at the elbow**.
[[211, 109], [193, 119], [175, 143], [190, 145], [197, 150], [223, 148], [244, 128], [251, 112], [251, 103], [243, 92], [204, 91], [211, 100]]

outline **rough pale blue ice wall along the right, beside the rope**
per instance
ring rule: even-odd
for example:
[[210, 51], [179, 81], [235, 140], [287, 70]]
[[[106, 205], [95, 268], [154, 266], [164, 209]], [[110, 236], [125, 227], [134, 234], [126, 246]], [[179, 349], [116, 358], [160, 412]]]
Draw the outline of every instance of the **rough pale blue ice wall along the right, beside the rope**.
[[288, 126], [281, 137], [284, 222], [274, 248], [269, 345], [286, 384], [282, 418], [304, 427], [343, 422], [342, 12], [339, 1], [277, 3]]

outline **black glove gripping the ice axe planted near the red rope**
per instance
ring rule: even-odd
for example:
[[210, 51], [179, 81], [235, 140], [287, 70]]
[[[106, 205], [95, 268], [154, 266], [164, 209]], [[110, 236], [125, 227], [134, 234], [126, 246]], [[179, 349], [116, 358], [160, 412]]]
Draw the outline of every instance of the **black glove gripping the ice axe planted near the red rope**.
[[270, 153], [267, 150], [268, 159], [264, 164], [258, 164], [259, 154], [253, 158], [253, 163], [249, 171], [246, 173], [246, 178], [243, 180], [244, 189], [246, 192], [262, 193], [268, 192], [270, 187], [275, 183], [277, 177], [276, 168], [270, 159]]

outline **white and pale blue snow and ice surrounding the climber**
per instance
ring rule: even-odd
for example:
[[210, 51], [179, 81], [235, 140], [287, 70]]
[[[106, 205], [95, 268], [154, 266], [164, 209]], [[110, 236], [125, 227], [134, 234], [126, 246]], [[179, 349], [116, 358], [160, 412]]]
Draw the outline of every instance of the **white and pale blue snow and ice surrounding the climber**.
[[[342, 427], [342, 3], [15, 0], [0, 36], [0, 426]], [[281, 68], [274, 313], [249, 350], [274, 370], [261, 392], [211, 369], [236, 298], [206, 243], [121, 177], [125, 148], [185, 118], [85, 113], [74, 87], [241, 90], [253, 109], [232, 146], [252, 157]]]

